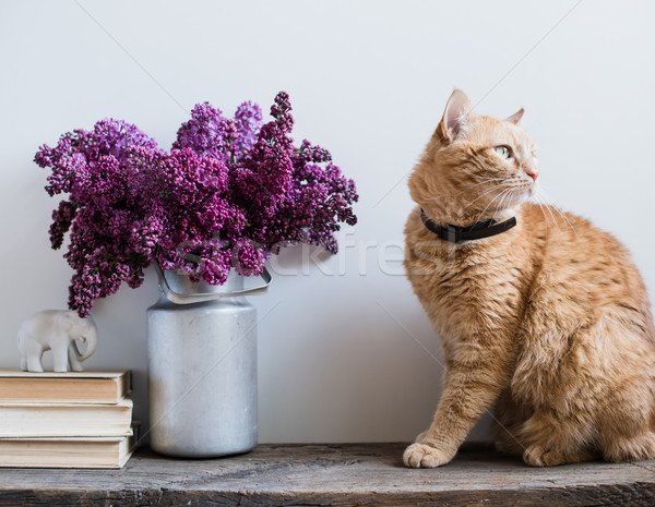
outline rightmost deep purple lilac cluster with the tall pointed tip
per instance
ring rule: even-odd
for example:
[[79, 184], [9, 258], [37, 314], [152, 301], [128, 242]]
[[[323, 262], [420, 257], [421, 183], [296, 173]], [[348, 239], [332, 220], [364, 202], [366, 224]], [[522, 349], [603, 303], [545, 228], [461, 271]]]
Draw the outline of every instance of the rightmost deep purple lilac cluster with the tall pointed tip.
[[294, 147], [290, 110], [288, 95], [279, 93], [271, 108], [274, 120], [234, 171], [233, 198], [247, 210], [245, 236], [265, 251], [276, 254], [282, 245], [306, 242], [336, 253], [338, 222], [357, 221], [355, 183], [343, 178], [326, 149], [308, 141]]

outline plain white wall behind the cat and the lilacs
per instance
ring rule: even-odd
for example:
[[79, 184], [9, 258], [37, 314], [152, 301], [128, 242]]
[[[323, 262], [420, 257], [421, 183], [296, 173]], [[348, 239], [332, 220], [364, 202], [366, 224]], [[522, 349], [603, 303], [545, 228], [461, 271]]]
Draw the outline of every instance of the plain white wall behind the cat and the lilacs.
[[[21, 321], [63, 307], [71, 270], [49, 249], [57, 205], [32, 159], [74, 128], [124, 119], [169, 147], [198, 101], [267, 111], [290, 94], [297, 140], [357, 181], [338, 256], [302, 249], [258, 306], [262, 442], [409, 440], [436, 407], [440, 347], [398, 248], [406, 179], [453, 85], [484, 113], [526, 108], [547, 197], [623, 240], [655, 295], [655, 7], [644, 1], [2, 1], [0, 367]], [[380, 261], [382, 259], [382, 262]], [[130, 367], [146, 419], [148, 273], [93, 315], [88, 367]], [[473, 438], [488, 437], [487, 420]]]

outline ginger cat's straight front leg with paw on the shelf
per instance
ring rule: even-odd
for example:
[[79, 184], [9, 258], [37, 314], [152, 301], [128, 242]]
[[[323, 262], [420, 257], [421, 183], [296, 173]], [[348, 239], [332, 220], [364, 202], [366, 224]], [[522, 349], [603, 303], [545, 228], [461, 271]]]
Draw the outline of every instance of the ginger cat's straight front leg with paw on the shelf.
[[434, 468], [451, 461], [473, 425], [509, 383], [505, 351], [492, 353], [478, 346], [467, 349], [473, 351], [460, 353], [464, 361], [449, 366], [432, 424], [405, 450], [405, 466]]

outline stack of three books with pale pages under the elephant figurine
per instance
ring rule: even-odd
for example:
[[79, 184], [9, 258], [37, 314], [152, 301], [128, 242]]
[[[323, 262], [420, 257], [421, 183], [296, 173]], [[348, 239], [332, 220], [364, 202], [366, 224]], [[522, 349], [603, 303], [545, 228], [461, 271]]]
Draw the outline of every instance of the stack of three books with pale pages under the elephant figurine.
[[121, 372], [0, 371], [0, 467], [121, 468], [136, 442]]

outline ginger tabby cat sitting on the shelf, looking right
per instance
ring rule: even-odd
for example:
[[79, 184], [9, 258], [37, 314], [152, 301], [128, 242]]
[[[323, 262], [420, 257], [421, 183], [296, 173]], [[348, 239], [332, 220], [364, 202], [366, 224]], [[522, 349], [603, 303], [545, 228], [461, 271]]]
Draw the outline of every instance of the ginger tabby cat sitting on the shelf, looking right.
[[[497, 448], [532, 466], [655, 458], [646, 289], [614, 237], [525, 203], [538, 167], [522, 116], [478, 116], [455, 89], [409, 179], [418, 206], [405, 268], [445, 371], [431, 426], [405, 450], [408, 467], [448, 463], [491, 407]], [[454, 243], [424, 225], [421, 208], [432, 226], [516, 226]]]

